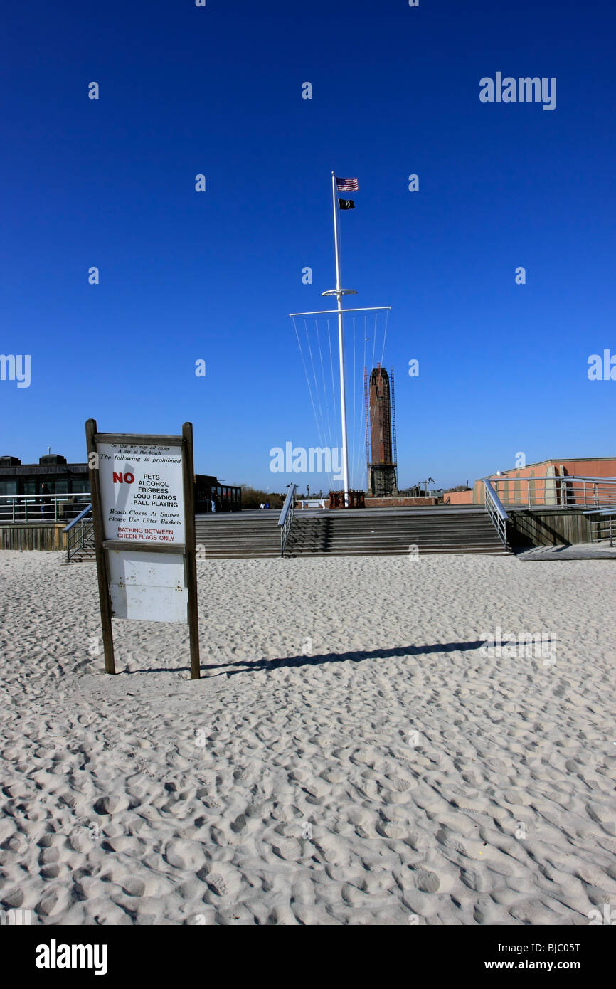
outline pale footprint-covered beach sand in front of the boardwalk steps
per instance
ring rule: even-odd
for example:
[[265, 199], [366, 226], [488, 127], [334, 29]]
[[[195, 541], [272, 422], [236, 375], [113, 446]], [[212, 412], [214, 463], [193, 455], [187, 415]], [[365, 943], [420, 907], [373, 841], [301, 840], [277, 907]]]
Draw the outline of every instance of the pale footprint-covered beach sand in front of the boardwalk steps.
[[[198, 566], [204, 677], [186, 626], [126, 621], [109, 676], [94, 566], [0, 553], [3, 908], [585, 925], [616, 905], [612, 561]], [[482, 655], [496, 626], [551, 634], [555, 664]]]

